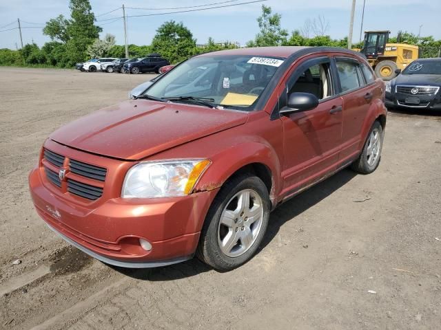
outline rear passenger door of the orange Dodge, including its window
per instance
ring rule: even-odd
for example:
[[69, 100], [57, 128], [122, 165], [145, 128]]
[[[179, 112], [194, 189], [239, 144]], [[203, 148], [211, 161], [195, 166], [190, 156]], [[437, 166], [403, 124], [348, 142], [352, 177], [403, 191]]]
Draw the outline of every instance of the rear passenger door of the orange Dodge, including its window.
[[360, 62], [355, 58], [336, 58], [338, 85], [343, 99], [341, 159], [359, 152], [362, 126], [373, 99], [371, 83], [365, 81]]

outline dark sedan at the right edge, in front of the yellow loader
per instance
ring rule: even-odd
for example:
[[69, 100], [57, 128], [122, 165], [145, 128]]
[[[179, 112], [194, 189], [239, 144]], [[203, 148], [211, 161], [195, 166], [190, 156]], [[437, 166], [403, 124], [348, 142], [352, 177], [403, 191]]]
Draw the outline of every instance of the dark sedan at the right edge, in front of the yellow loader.
[[441, 58], [413, 61], [386, 84], [386, 105], [441, 110]]

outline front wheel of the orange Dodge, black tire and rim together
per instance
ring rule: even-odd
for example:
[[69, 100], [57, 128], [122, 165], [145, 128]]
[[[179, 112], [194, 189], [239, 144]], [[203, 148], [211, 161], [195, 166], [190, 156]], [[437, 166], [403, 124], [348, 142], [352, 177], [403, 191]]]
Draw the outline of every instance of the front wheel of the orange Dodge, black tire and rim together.
[[243, 265], [265, 236], [269, 212], [268, 190], [261, 179], [251, 173], [232, 177], [209, 208], [196, 256], [220, 271]]

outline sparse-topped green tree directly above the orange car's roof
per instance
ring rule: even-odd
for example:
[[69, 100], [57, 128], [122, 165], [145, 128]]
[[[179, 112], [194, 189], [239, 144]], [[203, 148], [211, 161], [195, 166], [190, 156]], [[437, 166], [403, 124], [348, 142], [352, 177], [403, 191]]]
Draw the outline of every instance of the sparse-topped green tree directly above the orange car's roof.
[[257, 19], [260, 32], [256, 34], [254, 41], [247, 43], [249, 47], [280, 46], [286, 43], [288, 31], [280, 27], [282, 15], [271, 12], [271, 7], [262, 5], [262, 15]]

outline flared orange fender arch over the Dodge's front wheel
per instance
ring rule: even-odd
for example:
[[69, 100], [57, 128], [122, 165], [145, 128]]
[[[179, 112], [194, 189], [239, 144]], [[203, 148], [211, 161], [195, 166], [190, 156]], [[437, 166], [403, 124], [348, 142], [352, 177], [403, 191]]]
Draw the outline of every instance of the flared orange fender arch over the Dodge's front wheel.
[[194, 192], [213, 190], [222, 186], [240, 168], [253, 163], [263, 164], [271, 173], [269, 196], [273, 205], [280, 191], [280, 160], [271, 146], [260, 142], [244, 142], [210, 157], [207, 168], [194, 187]]

